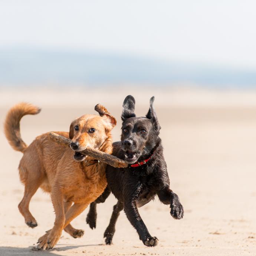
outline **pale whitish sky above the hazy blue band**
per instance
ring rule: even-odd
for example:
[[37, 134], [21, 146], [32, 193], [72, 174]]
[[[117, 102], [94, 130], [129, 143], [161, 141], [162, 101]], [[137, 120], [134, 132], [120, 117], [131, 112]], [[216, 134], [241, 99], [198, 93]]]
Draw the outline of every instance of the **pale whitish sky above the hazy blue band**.
[[1, 0], [0, 47], [131, 53], [256, 69], [254, 0]]

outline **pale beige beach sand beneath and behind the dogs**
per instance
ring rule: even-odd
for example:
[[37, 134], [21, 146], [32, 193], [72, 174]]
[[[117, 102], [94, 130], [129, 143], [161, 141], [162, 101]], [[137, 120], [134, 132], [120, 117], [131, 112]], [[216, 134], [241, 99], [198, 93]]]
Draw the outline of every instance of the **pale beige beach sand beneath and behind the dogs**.
[[256, 255], [256, 93], [154, 91], [0, 89], [1, 124], [8, 108], [17, 102], [42, 107], [39, 115], [22, 119], [22, 138], [27, 144], [43, 132], [68, 131], [73, 118], [93, 113], [97, 103], [118, 119], [113, 135], [119, 140], [124, 97], [133, 94], [138, 102], [136, 113], [143, 115], [155, 94], [171, 188], [185, 210], [183, 220], [174, 220], [169, 207], [158, 199], [139, 209], [151, 235], [159, 239], [153, 248], [142, 244], [122, 212], [113, 244], [107, 246], [103, 233], [116, 203], [111, 195], [98, 205], [96, 230], [85, 222], [87, 209], [72, 222], [85, 230], [81, 239], [63, 232], [55, 250], [33, 251], [37, 239], [53, 226], [52, 203], [49, 194], [39, 189], [30, 203], [39, 226], [26, 226], [17, 208], [23, 196], [17, 171], [22, 154], [9, 146], [1, 125], [0, 255]]

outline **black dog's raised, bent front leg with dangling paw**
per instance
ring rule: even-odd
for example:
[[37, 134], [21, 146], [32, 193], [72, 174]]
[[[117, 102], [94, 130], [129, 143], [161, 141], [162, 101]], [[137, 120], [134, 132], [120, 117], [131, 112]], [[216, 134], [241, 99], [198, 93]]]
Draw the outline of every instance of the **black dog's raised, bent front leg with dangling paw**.
[[171, 216], [174, 219], [180, 220], [184, 216], [183, 206], [180, 199], [169, 187], [165, 187], [158, 191], [158, 197], [163, 204], [170, 204]]

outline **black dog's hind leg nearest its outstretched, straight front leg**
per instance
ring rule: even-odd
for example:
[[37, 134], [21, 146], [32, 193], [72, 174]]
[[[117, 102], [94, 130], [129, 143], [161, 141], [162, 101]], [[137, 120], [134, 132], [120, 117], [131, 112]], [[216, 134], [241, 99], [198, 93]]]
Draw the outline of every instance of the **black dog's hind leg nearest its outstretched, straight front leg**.
[[115, 224], [116, 224], [117, 218], [120, 214], [120, 211], [122, 211], [123, 209], [124, 209], [124, 204], [121, 203], [120, 201], [117, 201], [117, 204], [114, 205], [114, 207], [113, 207], [113, 212], [111, 215], [109, 225], [106, 228], [105, 233], [104, 233], [104, 237], [106, 237], [106, 239], [105, 239], [106, 244], [112, 243], [112, 238], [115, 233]]

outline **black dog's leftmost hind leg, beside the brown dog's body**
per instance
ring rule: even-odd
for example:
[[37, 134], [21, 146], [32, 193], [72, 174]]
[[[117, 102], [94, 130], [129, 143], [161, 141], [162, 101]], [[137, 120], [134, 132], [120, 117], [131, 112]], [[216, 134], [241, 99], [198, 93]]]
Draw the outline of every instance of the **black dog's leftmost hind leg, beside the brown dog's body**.
[[108, 198], [110, 194], [110, 190], [108, 187], [105, 188], [104, 192], [94, 201], [90, 204], [89, 213], [86, 217], [86, 223], [89, 224], [90, 228], [96, 229], [96, 219], [97, 219], [97, 211], [96, 211], [96, 204], [104, 203], [106, 198]]

